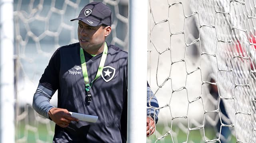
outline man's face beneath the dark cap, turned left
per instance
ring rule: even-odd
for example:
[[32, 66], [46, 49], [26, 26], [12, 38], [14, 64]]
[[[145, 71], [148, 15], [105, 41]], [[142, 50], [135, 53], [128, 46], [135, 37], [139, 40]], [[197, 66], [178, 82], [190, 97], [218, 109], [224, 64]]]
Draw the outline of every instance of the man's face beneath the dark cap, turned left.
[[106, 27], [100, 25], [92, 27], [82, 21], [78, 22], [78, 40], [80, 46], [86, 51], [96, 51], [105, 42]]

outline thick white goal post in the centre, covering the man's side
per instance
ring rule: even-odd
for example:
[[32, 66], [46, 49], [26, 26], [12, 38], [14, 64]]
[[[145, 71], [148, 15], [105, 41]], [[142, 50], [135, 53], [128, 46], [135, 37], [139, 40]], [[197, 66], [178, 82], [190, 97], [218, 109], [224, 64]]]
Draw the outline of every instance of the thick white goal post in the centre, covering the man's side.
[[129, 1], [128, 143], [146, 142], [148, 1]]

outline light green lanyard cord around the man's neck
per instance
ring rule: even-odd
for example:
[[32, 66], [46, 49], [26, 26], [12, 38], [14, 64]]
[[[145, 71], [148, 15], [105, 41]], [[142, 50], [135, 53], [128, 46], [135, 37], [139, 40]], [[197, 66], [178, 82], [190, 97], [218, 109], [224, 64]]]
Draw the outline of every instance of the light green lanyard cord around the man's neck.
[[82, 72], [83, 72], [83, 76], [84, 76], [84, 82], [85, 82], [85, 90], [88, 92], [90, 91], [90, 88], [92, 87], [93, 82], [100, 77], [100, 74], [102, 73], [105, 61], [106, 61], [106, 57], [108, 55], [108, 46], [105, 42], [104, 45], [104, 50], [100, 59], [100, 65], [98, 67], [98, 71], [97, 74], [94, 78], [94, 80], [92, 80], [92, 82], [89, 82], [89, 78], [88, 78], [88, 72], [87, 72], [87, 68], [86, 68], [86, 62], [85, 62], [85, 57], [84, 57], [84, 50], [80, 47], [80, 59], [81, 59], [81, 64], [82, 64]]

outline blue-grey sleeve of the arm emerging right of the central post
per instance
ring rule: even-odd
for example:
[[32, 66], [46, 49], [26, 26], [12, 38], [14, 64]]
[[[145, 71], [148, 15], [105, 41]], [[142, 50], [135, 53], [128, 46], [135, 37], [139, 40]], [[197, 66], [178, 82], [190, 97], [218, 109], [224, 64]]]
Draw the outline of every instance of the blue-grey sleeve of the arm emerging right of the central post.
[[152, 118], [154, 118], [157, 123], [159, 109], [156, 108], [158, 108], [159, 105], [156, 96], [150, 89], [149, 85], [147, 86], [147, 107], [147, 116], [151, 116]]

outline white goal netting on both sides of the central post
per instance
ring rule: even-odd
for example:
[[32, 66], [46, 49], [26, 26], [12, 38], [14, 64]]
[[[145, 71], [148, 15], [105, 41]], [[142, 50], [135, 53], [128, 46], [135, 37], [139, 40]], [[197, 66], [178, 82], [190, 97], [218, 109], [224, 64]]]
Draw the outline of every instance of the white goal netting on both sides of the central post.
[[[53, 52], [78, 42], [70, 20], [92, 1], [14, 0], [17, 143], [52, 142], [54, 123], [32, 97]], [[127, 51], [128, 0], [95, 1], [114, 14], [107, 41]], [[148, 0], [148, 82], [160, 113], [147, 142], [256, 142], [255, 13], [254, 0]]]

